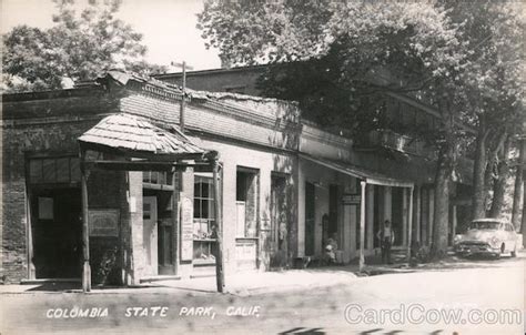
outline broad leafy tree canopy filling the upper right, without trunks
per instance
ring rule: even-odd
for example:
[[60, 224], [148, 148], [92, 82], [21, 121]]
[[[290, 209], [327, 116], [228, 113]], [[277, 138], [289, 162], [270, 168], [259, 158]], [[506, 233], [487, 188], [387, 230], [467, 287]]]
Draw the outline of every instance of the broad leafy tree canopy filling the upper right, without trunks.
[[[484, 109], [477, 94], [495, 108], [498, 97], [518, 106], [520, 13], [517, 2], [488, 0], [208, 0], [198, 27], [234, 64], [301, 61], [271, 68], [264, 92], [299, 100], [307, 116], [355, 133], [378, 125], [376, 94], [386, 87], [446, 101], [473, 124]], [[380, 80], [381, 69], [392, 78]]]

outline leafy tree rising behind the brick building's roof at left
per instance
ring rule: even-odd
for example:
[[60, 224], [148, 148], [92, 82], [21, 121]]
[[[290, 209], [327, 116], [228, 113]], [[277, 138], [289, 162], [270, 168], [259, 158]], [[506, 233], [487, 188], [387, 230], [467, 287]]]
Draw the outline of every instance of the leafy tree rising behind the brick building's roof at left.
[[115, 67], [143, 74], [165, 72], [144, 61], [142, 35], [117, 19], [122, 0], [90, 0], [80, 13], [73, 0], [54, 2], [52, 28], [19, 26], [3, 35], [4, 89], [59, 89], [64, 78], [92, 80]]

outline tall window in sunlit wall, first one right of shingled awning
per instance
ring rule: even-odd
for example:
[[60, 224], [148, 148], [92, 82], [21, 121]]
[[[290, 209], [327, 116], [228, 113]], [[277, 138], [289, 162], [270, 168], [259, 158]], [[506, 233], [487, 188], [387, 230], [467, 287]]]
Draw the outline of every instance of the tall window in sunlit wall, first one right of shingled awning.
[[[236, 175], [236, 236], [255, 237], [257, 222], [257, 173], [237, 170]], [[270, 224], [270, 223], [267, 223]]]

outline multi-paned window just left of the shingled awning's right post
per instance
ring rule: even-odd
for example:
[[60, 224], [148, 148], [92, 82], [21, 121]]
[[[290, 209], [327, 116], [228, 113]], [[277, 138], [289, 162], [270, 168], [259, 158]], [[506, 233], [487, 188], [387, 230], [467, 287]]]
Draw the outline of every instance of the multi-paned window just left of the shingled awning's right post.
[[206, 240], [212, 236], [212, 226], [215, 222], [214, 185], [212, 177], [194, 177], [193, 222], [194, 238]]

